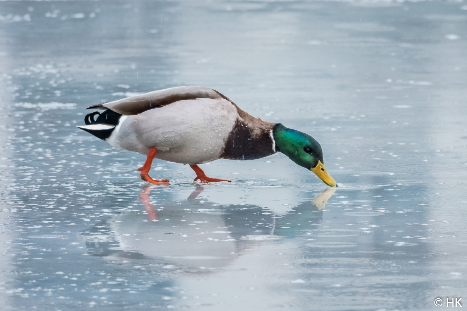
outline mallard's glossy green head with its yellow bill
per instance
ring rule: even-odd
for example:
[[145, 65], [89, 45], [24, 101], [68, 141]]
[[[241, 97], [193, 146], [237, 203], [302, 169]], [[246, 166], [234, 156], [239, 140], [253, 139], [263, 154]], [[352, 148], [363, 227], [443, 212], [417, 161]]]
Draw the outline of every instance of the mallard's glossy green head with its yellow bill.
[[326, 185], [337, 187], [336, 182], [326, 172], [323, 150], [316, 139], [280, 123], [274, 125], [272, 134], [276, 142], [276, 151], [282, 152], [299, 166], [313, 171]]

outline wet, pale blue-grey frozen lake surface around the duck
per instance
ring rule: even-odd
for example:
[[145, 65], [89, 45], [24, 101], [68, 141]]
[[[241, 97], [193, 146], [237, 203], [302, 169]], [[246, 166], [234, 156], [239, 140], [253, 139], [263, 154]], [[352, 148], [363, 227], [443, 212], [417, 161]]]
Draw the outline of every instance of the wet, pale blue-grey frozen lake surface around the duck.
[[[457, 1], [1, 1], [2, 311], [438, 310], [467, 292], [467, 6]], [[203, 85], [307, 132], [188, 166], [75, 127]], [[335, 192], [334, 192], [335, 190]], [[464, 297], [464, 299], [467, 297]], [[467, 301], [461, 301], [467, 303]]]

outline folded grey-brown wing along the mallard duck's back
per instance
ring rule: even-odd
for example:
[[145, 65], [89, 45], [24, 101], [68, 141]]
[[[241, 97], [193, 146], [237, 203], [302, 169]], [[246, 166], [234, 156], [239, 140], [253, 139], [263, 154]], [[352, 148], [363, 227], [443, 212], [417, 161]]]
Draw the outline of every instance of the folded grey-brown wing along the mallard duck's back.
[[86, 109], [110, 109], [124, 116], [132, 116], [152, 108], [167, 106], [168, 104], [175, 103], [179, 100], [195, 98], [224, 98], [230, 101], [230, 99], [220, 94], [216, 90], [212, 90], [203, 86], [192, 85], [157, 90], [132, 97], [122, 98], [113, 102], [95, 104], [89, 106]]

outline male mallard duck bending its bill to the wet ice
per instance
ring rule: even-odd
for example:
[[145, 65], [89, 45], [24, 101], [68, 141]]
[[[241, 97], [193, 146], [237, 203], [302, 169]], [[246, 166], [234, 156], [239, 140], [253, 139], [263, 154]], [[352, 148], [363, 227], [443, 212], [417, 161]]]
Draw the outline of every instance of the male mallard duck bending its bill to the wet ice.
[[101, 109], [78, 125], [114, 147], [147, 155], [141, 179], [159, 185], [169, 180], [149, 176], [154, 158], [189, 164], [201, 182], [209, 178], [198, 164], [217, 160], [252, 160], [282, 152], [299, 166], [337, 187], [326, 172], [323, 152], [310, 135], [280, 123], [263, 121], [230, 99], [202, 86], [180, 86], [119, 99], [86, 109]]

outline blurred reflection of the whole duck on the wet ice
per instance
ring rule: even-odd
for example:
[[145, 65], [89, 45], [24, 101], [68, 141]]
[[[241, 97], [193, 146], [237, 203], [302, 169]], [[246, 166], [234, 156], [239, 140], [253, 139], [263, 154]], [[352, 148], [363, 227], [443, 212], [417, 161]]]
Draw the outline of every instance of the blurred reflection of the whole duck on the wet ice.
[[327, 188], [312, 202], [277, 216], [258, 206], [219, 206], [199, 200], [203, 187], [196, 187], [185, 202], [155, 203], [150, 199], [154, 187], [146, 185], [140, 193], [147, 214], [132, 211], [114, 216], [85, 233], [90, 254], [115, 260], [151, 259], [168, 269], [224, 267], [244, 249], [318, 228], [322, 210], [335, 192]]

